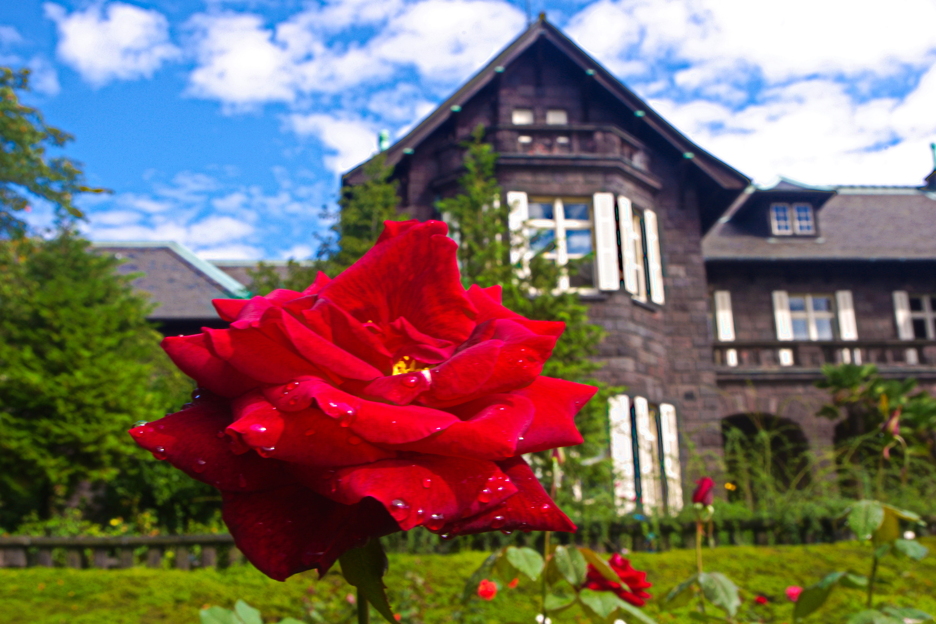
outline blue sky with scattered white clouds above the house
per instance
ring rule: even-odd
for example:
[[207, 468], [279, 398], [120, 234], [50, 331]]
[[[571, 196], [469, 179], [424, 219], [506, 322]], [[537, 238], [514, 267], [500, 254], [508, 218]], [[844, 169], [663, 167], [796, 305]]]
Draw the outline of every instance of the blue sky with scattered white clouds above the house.
[[[756, 181], [931, 170], [931, 0], [532, 7]], [[0, 64], [34, 70], [28, 101], [114, 191], [82, 200], [90, 238], [304, 258], [377, 132], [402, 136], [524, 26], [522, 0], [21, 0], [0, 3]]]

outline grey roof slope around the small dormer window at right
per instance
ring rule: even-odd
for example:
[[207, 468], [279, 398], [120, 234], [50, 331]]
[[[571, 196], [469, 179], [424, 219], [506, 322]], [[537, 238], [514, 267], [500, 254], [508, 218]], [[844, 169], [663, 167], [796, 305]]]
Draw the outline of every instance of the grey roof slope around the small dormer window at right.
[[[914, 186], [826, 188], [834, 196], [816, 212], [817, 236], [758, 236], [739, 224], [741, 210], [733, 206], [702, 239], [705, 259], [936, 260], [936, 193]], [[736, 204], [750, 205], [756, 193]]]

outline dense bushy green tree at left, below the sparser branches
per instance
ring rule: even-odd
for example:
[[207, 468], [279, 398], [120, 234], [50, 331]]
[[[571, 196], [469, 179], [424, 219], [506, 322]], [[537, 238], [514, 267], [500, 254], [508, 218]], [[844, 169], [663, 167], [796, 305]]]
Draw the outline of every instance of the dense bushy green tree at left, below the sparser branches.
[[152, 306], [133, 290], [135, 275], [115, 273], [119, 264], [67, 229], [49, 240], [0, 241], [0, 526], [7, 530], [30, 511], [46, 517], [74, 504], [76, 492], [96, 494], [100, 506], [109, 483], [123, 480], [124, 491], [102, 514], [129, 509], [134, 497], [152, 506], [154, 490], [172, 487], [160, 481], [161, 462], [126, 429], [178, 408], [192, 385], [159, 348], [161, 336], [146, 320]]

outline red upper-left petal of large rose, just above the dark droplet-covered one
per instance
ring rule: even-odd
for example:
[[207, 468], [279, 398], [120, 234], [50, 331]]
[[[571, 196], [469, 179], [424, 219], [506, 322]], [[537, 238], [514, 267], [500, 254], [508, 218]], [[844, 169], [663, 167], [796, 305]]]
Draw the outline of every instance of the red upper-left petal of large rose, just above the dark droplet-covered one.
[[237, 397], [259, 385], [255, 379], [214, 356], [208, 348], [208, 337], [204, 334], [169, 336], [160, 345], [180, 370], [214, 394]]

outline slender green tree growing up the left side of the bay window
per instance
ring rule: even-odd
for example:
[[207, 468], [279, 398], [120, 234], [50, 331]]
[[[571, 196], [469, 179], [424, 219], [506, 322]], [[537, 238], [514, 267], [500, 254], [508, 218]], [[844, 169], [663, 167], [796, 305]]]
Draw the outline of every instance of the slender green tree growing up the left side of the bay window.
[[[570, 449], [563, 464], [563, 487], [559, 501], [572, 509], [574, 519], [588, 520], [616, 516], [610, 487], [612, 476], [610, 461], [605, 458], [607, 438], [607, 399], [622, 392], [597, 382], [592, 373], [600, 364], [592, 359], [598, 344], [605, 336], [602, 327], [589, 322], [588, 307], [582, 304], [578, 293], [559, 291], [556, 284], [562, 270], [570, 274], [579, 265], [592, 262], [586, 257], [580, 263], [559, 268], [539, 254], [529, 259], [526, 266], [510, 262], [510, 252], [522, 251], [523, 242], [512, 240], [508, 229], [510, 207], [495, 177], [497, 153], [483, 140], [484, 128], [478, 126], [473, 138], [464, 144], [465, 173], [459, 184], [461, 193], [438, 202], [450, 227], [450, 234], [459, 243], [461, 278], [466, 286], [476, 283], [482, 287], [501, 284], [505, 307], [528, 318], [542, 321], [563, 321], [565, 331], [557, 341], [543, 374], [572, 382], [598, 386], [598, 393], [586, 404], [576, 423], [585, 442]], [[544, 474], [547, 484], [552, 479], [552, 462], [548, 453], [534, 459]], [[575, 499], [571, 484], [581, 488], [581, 501]]]

